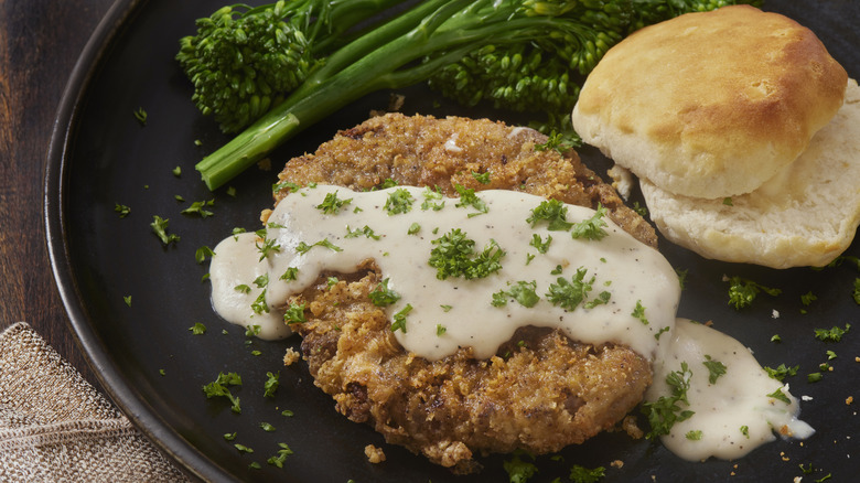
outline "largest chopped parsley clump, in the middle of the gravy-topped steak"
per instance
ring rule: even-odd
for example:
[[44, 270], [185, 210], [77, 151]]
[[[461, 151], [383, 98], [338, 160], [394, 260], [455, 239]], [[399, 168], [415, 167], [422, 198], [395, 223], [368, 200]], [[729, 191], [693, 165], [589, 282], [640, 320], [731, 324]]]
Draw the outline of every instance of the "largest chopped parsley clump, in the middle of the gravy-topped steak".
[[475, 254], [475, 240], [466, 237], [460, 228], [453, 228], [431, 243], [436, 247], [430, 250], [427, 261], [436, 268], [436, 278], [439, 280], [448, 277], [463, 277], [466, 280], [487, 277], [502, 268], [499, 260], [505, 256], [505, 251], [492, 239], [483, 251]]

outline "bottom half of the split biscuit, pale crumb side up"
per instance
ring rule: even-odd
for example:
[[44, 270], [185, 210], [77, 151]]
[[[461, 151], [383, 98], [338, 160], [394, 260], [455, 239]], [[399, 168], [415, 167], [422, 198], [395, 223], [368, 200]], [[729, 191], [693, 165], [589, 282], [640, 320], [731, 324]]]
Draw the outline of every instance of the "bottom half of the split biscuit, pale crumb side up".
[[860, 224], [860, 88], [797, 160], [756, 191], [728, 200], [674, 195], [639, 180], [652, 219], [669, 240], [707, 258], [773, 268], [824, 266]]

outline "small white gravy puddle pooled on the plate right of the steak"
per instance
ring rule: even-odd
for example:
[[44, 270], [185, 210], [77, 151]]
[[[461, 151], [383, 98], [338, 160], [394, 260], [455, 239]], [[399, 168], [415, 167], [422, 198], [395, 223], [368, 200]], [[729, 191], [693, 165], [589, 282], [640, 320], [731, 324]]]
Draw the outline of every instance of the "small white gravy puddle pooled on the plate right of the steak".
[[[691, 461], [709, 457], [732, 460], [773, 441], [774, 431], [797, 439], [806, 439], [815, 432], [797, 419], [799, 405], [788, 387], [771, 378], [750, 350], [737, 340], [706, 325], [678, 319], [671, 336], [662, 342], [660, 356], [653, 366], [654, 384], [645, 399], [654, 401], [668, 395], [666, 376], [679, 372], [682, 362], [691, 373], [687, 390], [689, 407], [685, 409], [695, 414], [676, 422], [670, 432], [660, 438], [678, 457]], [[724, 365], [725, 373], [711, 384], [711, 371], [705, 363], [714, 361]]]

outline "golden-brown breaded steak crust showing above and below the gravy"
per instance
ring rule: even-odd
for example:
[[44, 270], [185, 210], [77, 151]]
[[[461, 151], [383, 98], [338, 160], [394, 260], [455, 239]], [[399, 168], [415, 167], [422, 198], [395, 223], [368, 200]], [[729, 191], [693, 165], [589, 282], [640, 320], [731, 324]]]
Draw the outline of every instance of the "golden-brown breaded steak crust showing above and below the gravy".
[[[651, 246], [651, 225], [623, 205], [615, 191], [577, 154], [535, 150], [542, 135], [488, 120], [434, 119], [391, 114], [340, 132], [314, 154], [287, 163], [282, 182], [370, 189], [391, 179], [401, 185], [455, 184], [524, 191], [566, 203], [609, 210], [612, 219]], [[491, 182], [474, 173], [490, 171]], [[276, 200], [288, 194], [284, 187]], [[373, 260], [355, 273], [337, 273], [291, 302], [307, 303], [308, 322], [293, 324], [315, 385], [337, 410], [367, 422], [401, 444], [458, 473], [476, 471], [473, 454], [555, 452], [614, 426], [642, 399], [651, 365], [632, 350], [593, 346], [558, 330], [526, 326], [490, 359], [470, 347], [439, 361], [407, 353], [384, 309], [368, 293], [383, 280]], [[488, 312], [487, 316], [492, 316]]]

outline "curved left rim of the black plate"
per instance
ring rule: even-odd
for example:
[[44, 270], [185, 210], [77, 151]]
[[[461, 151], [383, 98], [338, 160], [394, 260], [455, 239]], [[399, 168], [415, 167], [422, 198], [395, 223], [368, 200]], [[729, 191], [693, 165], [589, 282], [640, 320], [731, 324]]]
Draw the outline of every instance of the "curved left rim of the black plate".
[[146, 4], [146, 0], [117, 0], [87, 42], [64, 92], [53, 127], [45, 173], [44, 206], [50, 258], [78, 345], [109, 396], [138, 428], [191, 474], [207, 481], [233, 480], [229, 472], [180, 437], [139, 391], [123, 379], [109, 348], [88, 320], [65, 238], [67, 227], [64, 207], [67, 202], [64, 180], [68, 176], [68, 149], [75, 137], [75, 119], [80, 103], [89, 82], [111, 49], [111, 39], [122, 25], [133, 21], [136, 13]]

